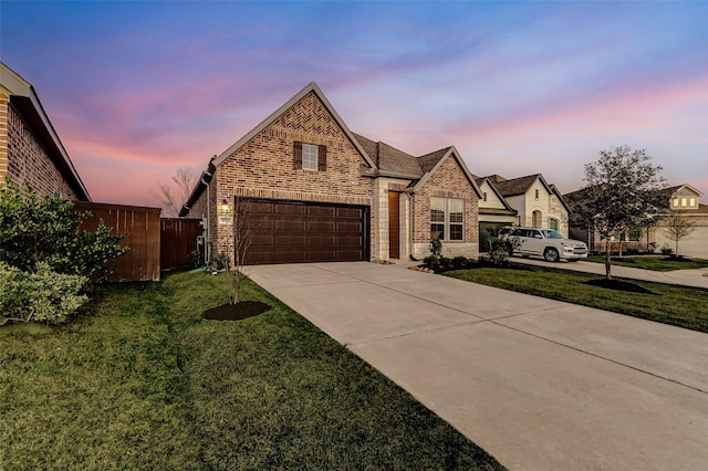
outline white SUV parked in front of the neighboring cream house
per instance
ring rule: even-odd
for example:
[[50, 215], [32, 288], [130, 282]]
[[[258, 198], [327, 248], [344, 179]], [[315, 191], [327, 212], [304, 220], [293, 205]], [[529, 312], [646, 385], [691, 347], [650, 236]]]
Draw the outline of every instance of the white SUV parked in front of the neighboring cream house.
[[576, 262], [587, 258], [587, 245], [584, 242], [565, 239], [553, 229], [506, 227], [499, 237], [502, 240], [519, 238], [521, 244], [518, 248], [512, 248], [509, 243], [509, 254], [513, 255], [540, 255], [546, 262], [558, 262], [561, 259]]

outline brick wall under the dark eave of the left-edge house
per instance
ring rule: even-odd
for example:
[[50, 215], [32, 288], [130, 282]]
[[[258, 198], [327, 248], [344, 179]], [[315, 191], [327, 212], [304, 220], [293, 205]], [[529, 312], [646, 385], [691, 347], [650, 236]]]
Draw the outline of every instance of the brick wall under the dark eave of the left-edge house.
[[[3, 137], [7, 144], [2, 142]], [[22, 189], [29, 184], [41, 196], [61, 193], [66, 199], [77, 199], [32, 129], [12, 105], [8, 104], [7, 97], [0, 94], [1, 185], [4, 185], [3, 171]]]

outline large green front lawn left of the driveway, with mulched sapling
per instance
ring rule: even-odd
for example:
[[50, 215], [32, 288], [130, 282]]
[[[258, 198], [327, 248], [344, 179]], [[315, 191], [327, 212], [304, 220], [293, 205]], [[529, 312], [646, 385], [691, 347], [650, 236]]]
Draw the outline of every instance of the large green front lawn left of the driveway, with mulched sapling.
[[501, 469], [251, 282], [110, 285], [70, 325], [0, 328], [0, 469]]

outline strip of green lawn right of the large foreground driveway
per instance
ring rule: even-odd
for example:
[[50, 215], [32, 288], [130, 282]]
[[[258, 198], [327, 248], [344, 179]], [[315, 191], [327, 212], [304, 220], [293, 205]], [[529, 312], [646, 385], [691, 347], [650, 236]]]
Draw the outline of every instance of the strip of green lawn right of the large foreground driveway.
[[596, 274], [531, 265], [509, 269], [479, 268], [445, 273], [447, 276], [552, 300], [597, 307], [634, 317], [708, 333], [708, 290], [624, 280], [653, 294], [593, 286]]

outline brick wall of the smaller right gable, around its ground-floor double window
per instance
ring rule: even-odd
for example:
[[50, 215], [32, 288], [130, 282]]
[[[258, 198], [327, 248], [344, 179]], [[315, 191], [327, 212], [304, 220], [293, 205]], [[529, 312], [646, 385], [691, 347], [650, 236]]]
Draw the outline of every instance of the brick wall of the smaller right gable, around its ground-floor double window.
[[450, 156], [433, 174], [420, 191], [413, 197], [413, 248], [414, 257], [421, 259], [430, 254], [430, 198], [459, 198], [465, 201], [464, 240], [444, 241], [442, 253], [446, 257], [465, 255], [476, 259], [479, 255], [479, 198], [470, 186], [465, 170]]

